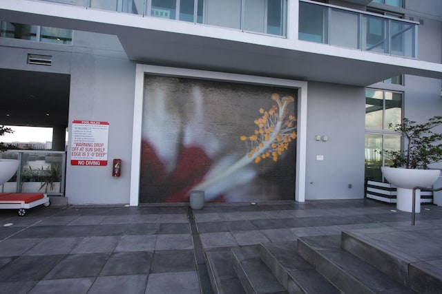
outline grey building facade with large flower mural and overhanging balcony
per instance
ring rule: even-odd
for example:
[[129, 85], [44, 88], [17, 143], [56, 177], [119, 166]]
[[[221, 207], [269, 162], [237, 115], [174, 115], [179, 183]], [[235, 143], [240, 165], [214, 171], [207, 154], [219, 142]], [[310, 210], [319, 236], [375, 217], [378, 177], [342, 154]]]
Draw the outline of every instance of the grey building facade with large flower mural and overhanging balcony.
[[389, 123], [440, 114], [441, 12], [3, 0], [0, 124], [53, 127], [55, 150], [67, 127], [71, 204], [363, 198], [378, 150], [400, 148]]

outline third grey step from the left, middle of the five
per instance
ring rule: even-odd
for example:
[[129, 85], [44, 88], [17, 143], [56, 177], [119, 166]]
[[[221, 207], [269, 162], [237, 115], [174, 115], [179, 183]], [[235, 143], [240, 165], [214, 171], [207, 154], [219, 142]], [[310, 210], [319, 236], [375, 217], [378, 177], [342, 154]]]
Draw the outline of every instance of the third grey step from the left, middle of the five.
[[338, 288], [296, 253], [296, 248], [296, 241], [266, 243], [260, 246], [260, 256], [291, 294], [339, 294]]

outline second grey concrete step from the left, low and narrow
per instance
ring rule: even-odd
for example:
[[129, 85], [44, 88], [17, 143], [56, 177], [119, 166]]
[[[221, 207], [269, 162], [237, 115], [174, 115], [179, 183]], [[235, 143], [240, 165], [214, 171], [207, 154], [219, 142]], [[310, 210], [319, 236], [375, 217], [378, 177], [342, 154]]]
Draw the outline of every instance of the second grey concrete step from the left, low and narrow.
[[261, 260], [260, 246], [243, 246], [232, 249], [233, 268], [247, 294], [286, 294], [269, 268]]

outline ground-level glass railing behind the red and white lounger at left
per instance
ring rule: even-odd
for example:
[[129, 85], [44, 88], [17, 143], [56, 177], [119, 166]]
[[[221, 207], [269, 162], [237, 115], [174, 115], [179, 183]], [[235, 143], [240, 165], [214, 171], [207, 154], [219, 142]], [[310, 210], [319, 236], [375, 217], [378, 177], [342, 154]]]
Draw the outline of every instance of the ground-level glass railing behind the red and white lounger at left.
[[47, 193], [64, 196], [66, 152], [8, 150], [0, 159], [19, 160], [17, 173], [0, 185], [0, 193]]

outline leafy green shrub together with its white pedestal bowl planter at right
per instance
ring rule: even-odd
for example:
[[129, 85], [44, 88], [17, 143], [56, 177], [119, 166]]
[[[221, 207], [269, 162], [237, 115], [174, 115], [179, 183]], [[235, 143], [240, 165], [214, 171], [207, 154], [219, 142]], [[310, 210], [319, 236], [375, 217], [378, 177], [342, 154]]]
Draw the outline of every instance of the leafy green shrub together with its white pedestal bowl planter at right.
[[[407, 118], [392, 126], [404, 138], [403, 151], [384, 151], [392, 160], [392, 167], [382, 167], [383, 176], [397, 187], [396, 204], [401, 211], [412, 211], [414, 187], [429, 187], [436, 182], [441, 171], [428, 169], [433, 162], [442, 161], [442, 134], [432, 131], [442, 125], [442, 116], [434, 116], [427, 123], [416, 123]], [[421, 194], [416, 190], [416, 212], [421, 211]]]

